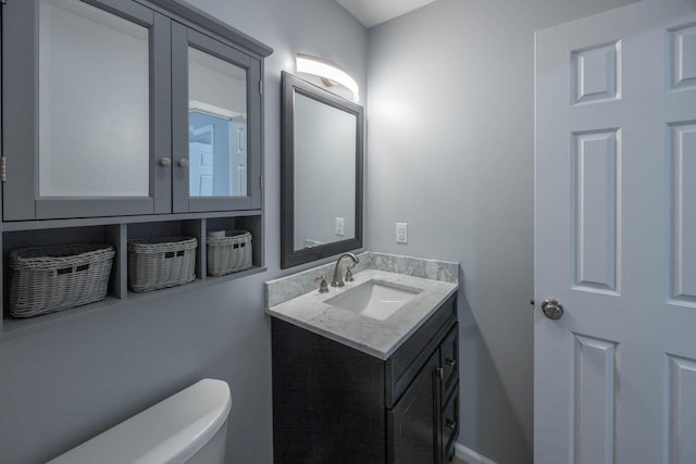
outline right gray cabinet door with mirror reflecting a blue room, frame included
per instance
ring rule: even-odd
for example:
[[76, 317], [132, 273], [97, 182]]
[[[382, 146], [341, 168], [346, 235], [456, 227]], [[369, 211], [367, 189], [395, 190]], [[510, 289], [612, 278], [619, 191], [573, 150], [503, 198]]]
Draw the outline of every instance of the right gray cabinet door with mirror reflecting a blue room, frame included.
[[174, 212], [261, 206], [260, 61], [172, 25]]

